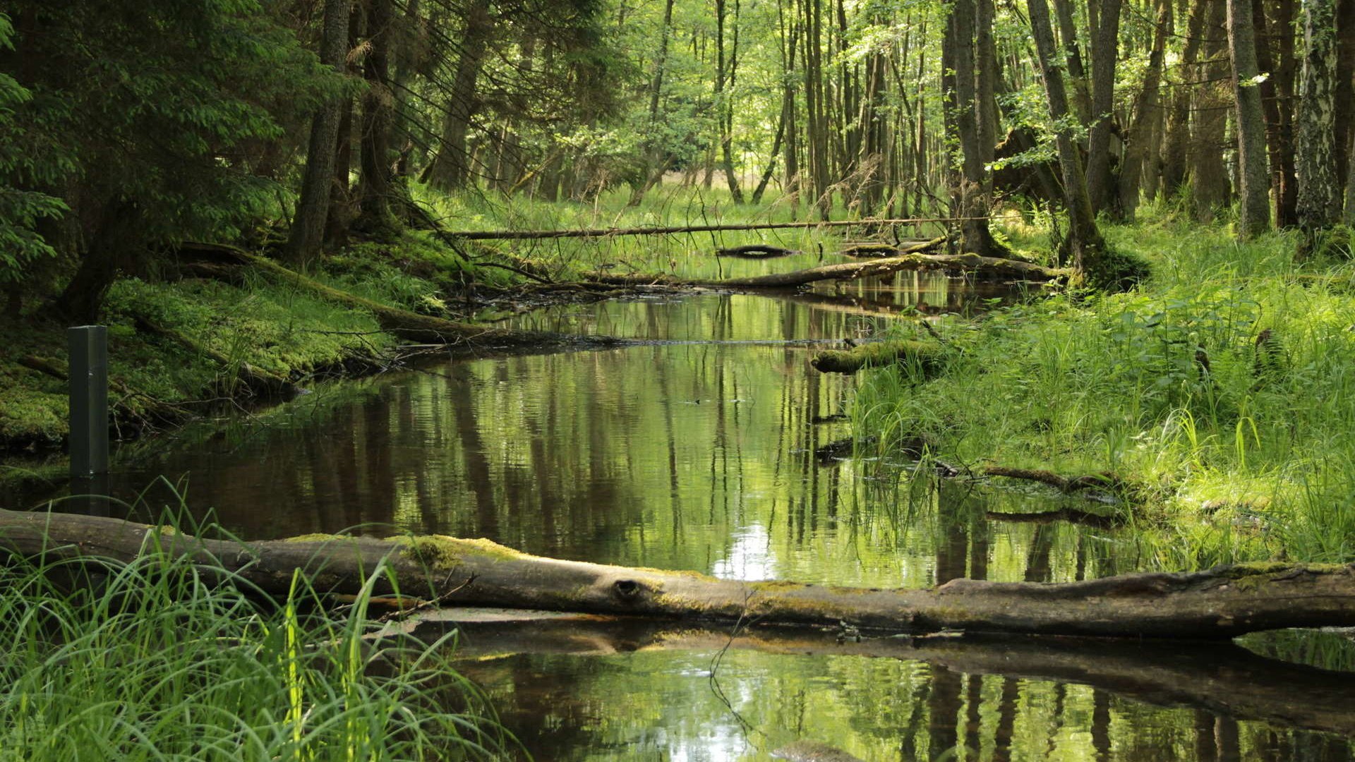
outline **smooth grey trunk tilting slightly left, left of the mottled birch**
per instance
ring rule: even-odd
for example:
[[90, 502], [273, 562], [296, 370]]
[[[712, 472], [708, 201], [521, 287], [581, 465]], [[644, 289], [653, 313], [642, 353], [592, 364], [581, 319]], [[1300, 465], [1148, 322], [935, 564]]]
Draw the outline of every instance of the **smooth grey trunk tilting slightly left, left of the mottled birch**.
[[1270, 229], [1270, 167], [1266, 164], [1262, 88], [1256, 81], [1260, 69], [1252, 0], [1228, 0], [1228, 49], [1237, 118], [1237, 235], [1249, 239]]

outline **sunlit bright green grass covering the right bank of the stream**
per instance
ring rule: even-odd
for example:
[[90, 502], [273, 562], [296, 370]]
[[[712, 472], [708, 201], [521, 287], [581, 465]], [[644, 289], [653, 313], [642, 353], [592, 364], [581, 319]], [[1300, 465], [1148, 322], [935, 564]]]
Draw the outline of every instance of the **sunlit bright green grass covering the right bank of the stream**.
[[962, 357], [930, 382], [871, 373], [858, 430], [885, 447], [923, 435], [967, 464], [1140, 483], [1160, 568], [1355, 560], [1351, 263], [1295, 263], [1295, 236], [1238, 244], [1165, 216], [1106, 233], [1152, 262], [1150, 282], [942, 325]]

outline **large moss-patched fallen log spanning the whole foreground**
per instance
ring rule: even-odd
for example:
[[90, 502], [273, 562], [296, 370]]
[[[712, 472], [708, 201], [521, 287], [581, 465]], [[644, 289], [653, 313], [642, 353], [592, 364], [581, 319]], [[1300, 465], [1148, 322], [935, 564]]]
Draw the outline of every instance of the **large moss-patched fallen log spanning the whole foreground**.
[[336, 594], [356, 594], [382, 569], [375, 595], [446, 595], [455, 605], [650, 617], [848, 622], [894, 632], [1222, 639], [1355, 625], [1355, 564], [1237, 564], [1060, 584], [955, 579], [934, 590], [864, 590], [542, 559], [488, 540], [308, 536], [237, 542], [112, 518], [5, 510], [0, 510], [0, 548], [119, 560], [160, 548], [199, 560], [203, 574], [221, 568], [271, 594], [286, 594], [294, 569], [302, 569], [317, 590]]

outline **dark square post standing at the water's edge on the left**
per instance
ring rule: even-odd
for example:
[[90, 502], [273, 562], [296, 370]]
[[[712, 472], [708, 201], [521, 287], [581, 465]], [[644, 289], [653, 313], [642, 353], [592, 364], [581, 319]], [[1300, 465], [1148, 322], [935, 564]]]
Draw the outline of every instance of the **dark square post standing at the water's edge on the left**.
[[70, 346], [70, 476], [108, 473], [108, 329], [66, 329]]

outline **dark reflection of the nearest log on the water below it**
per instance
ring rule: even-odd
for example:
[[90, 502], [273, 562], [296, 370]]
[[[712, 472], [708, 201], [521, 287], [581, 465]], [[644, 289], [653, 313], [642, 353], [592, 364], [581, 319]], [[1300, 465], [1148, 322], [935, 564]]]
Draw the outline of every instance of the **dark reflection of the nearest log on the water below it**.
[[[455, 626], [466, 659], [505, 654], [610, 655], [638, 649], [908, 659], [965, 674], [1057, 681], [1157, 706], [1190, 706], [1238, 720], [1355, 735], [1355, 675], [1260, 656], [1232, 643], [1047, 636], [836, 637], [810, 628], [675, 626], [633, 617], [444, 609], [413, 629], [431, 640]], [[1299, 687], [1301, 686], [1301, 687]], [[1302, 698], [1295, 700], [1295, 690]]]

